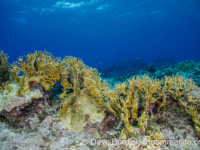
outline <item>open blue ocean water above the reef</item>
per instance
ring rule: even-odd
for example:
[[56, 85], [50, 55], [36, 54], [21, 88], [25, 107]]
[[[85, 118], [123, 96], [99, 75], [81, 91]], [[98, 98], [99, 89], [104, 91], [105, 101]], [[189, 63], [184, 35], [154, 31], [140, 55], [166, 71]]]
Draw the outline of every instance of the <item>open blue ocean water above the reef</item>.
[[9, 62], [46, 50], [90, 67], [160, 56], [200, 59], [199, 0], [0, 0]]

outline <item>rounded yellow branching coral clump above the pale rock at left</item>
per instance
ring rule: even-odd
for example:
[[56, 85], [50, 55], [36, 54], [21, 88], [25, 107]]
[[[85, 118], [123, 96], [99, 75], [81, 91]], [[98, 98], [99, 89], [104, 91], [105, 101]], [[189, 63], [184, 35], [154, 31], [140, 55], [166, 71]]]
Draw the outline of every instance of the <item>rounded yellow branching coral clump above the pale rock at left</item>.
[[[22, 89], [29, 78], [39, 77], [42, 78], [41, 82], [45, 89], [49, 90], [53, 88], [56, 82], [60, 82], [62, 68], [63, 65], [60, 58], [55, 58], [51, 53], [46, 51], [36, 51], [34, 54], [25, 56], [25, 59], [19, 57], [18, 61], [11, 65], [11, 80], [19, 83], [20, 89]], [[18, 75], [20, 72], [23, 75], [19, 79]]]

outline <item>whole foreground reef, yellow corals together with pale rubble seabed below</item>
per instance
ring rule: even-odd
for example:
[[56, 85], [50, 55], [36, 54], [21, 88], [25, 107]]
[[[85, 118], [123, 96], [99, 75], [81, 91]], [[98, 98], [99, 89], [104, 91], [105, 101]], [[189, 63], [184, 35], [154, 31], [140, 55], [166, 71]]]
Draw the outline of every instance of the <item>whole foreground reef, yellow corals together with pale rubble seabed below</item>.
[[[198, 64], [185, 63], [169, 68], [198, 71]], [[71, 56], [61, 60], [36, 51], [19, 57], [1, 86], [0, 127], [5, 129], [0, 128], [0, 146], [25, 149], [35, 140], [34, 149], [188, 149], [187, 144], [153, 141], [199, 140], [199, 87], [182, 74], [152, 78], [158, 71], [152, 65], [110, 85]], [[125, 143], [129, 139], [140, 142]], [[121, 142], [109, 144], [113, 140]]]

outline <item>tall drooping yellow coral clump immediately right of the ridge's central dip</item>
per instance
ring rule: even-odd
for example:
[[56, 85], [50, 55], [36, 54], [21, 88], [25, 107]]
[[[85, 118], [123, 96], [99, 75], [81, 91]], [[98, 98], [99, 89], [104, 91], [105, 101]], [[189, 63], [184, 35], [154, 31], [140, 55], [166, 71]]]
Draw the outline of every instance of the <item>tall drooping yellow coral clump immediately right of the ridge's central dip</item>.
[[[148, 76], [133, 78], [116, 85], [116, 89], [107, 94], [109, 108], [124, 121], [126, 131], [132, 132], [131, 124], [135, 121], [139, 121], [139, 126], [145, 130], [149, 118], [147, 108], [157, 101], [160, 90], [159, 80], [150, 79]], [[138, 118], [139, 100], [144, 111]]]

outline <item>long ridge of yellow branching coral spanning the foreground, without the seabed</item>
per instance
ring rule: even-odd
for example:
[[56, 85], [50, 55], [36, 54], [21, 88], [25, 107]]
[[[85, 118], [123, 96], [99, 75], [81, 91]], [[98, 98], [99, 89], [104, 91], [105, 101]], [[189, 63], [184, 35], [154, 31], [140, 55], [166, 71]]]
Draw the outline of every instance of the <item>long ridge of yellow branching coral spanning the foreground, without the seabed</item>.
[[[61, 60], [46, 51], [36, 51], [25, 59], [19, 57], [8, 71], [10, 79], [0, 87], [0, 115], [9, 120], [16, 117], [22, 121], [20, 117], [27, 114], [28, 106], [31, 106], [31, 111], [37, 108], [48, 114], [46, 107], [53, 105], [47, 102], [48, 98], [55, 84], [59, 83], [62, 87], [58, 94], [61, 102], [56, 118], [66, 129], [82, 131], [86, 126], [98, 126], [95, 123], [103, 122], [106, 130], [119, 131], [113, 134], [114, 137], [125, 140], [138, 136], [135, 128], [140, 128], [141, 133], [148, 131], [149, 120], [156, 119], [156, 114], [163, 111], [171, 100], [184, 108], [200, 136], [200, 98], [192, 94], [197, 87], [191, 79], [180, 75], [165, 76], [161, 80], [147, 75], [137, 76], [111, 89], [98, 71], [86, 66], [82, 60], [71, 56]], [[37, 115], [45, 119], [45, 115]], [[112, 125], [108, 123], [109, 117], [115, 120]], [[98, 130], [95, 132], [99, 138], [103, 136]], [[150, 138], [152, 136], [161, 139], [159, 133], [150, 132]]]

